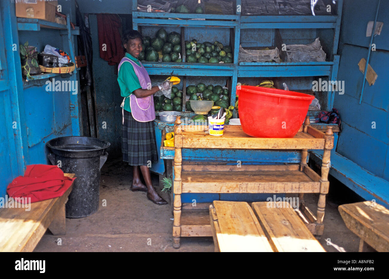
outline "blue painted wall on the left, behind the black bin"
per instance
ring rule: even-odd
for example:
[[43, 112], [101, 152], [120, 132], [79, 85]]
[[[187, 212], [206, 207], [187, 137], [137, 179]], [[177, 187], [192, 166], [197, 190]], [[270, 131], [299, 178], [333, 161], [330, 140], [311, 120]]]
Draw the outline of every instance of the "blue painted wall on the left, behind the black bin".
[[[74, 12], [74, 2], [60, 0], [62, 12]], [[22, 175], [26, 165], [47, 164], [45, 144], [58, 136], [79, 135], [77, 119], [72, 119], [70, 103], [78, 110], [79, 95], [70, 92], [47, 92], [46, 81], [35, 80], [23, 84], [19, 44], [26, 41], [43, 51], [44, 45], [59, 47], [70, 54], [67, 36], [61, 36], [59, 30], [18, 31], [15, 15], [15, 3], [0, 0], [0, 120], [5, 129], [0, 131], [0, 196], [6, 194], [7, 185], [18, 175]], [[74, 16], [74, 14], [72, 14]], [[71, 17], [72, 17], [71, 16]], [[74, 17], [73, 17], [74, 18]], [[12, 45], [18, 47], [16, 51]], [[75, 45], [77, 48], [77, 45]], [[3, 53], [4, 51], [4, 53]], [[74, 59], [74, 57], [72, 57]], [[75, 80], [75, 75], [58, 75], [57, 80]], [[78, 88], [79, 92], [79, 88]], [[77, 113], [75, 113], [77, 115]], [[72, 121], [73, 120], [73, 121]]]

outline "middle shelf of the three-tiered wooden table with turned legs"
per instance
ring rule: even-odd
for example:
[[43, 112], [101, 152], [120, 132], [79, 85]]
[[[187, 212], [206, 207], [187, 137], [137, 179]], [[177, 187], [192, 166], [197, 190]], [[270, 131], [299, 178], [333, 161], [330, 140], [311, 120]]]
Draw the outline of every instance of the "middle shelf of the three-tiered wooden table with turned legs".
[[320, 176], [308, 166], [182, 166], [182, 193], [317, 193]]

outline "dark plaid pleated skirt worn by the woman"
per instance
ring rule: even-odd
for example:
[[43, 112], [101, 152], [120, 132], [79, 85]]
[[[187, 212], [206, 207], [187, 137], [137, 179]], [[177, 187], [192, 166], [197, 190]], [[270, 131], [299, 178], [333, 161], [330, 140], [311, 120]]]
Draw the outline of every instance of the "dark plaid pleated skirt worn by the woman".
[[154, 121], [138, 122], [126, 110], [123, 116], [123, 161], [130, 166], [147, 166], [149, 161], [158, 161]]

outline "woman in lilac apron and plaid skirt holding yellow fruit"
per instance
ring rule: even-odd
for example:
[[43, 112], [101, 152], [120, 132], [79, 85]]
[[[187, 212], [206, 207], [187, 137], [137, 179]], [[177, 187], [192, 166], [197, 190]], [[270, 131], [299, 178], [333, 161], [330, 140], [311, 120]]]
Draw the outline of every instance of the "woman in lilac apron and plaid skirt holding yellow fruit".
[[[167, 202], [154, 190], [151, 183], [150, 162], [157, 161], [154, 131], [154, 100], [152, 94], [171, 88], [170, 81], [151, 87], [150, 77], [138, 60], [142, 51], [142, 35], [135, 30], [124, 32], [122, 43], [126, 54], [119, 64], [117, 82], [124, 97], [122, 152], [123, 161], [133, 166], [131, 190], [147, 192], [147, 198], [155, 204]], [[140, 181], [139, 169], [145, 184]]]

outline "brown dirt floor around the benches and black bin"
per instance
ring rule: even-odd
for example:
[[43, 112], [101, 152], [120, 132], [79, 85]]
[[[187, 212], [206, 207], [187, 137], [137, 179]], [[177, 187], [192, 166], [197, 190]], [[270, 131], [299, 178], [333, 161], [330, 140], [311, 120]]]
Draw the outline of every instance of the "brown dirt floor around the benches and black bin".
[[[152, 175], [157, 192], [161, 193], [158, 176]], [[212, 252], [212, 237], [182, 237], [181, 247], [173, 249], [173, 215], [170, 205], [158, 206], [144, 192], [131, 192], [131, 167], [120, 158], [108, 161], [102, 168], [100, 201], [106, 206], [88, 217], [66, 220], [66, 235], [54, 236], [49, 230], [34, 251], [53, 252]], [[331, 181], [331, 180], [330, 180]], [[316, 212], [317, 194], [305, 194], [304, 200]], [[357, 252], [359, 238], [346, 228], [338, 212], [340, 204], [362, 201], [344, 185], [331, 181], [324, 216], [324, 234], [319, 239], [328, 252]], [[330, 241], [329, 243], [326, 241]]]

